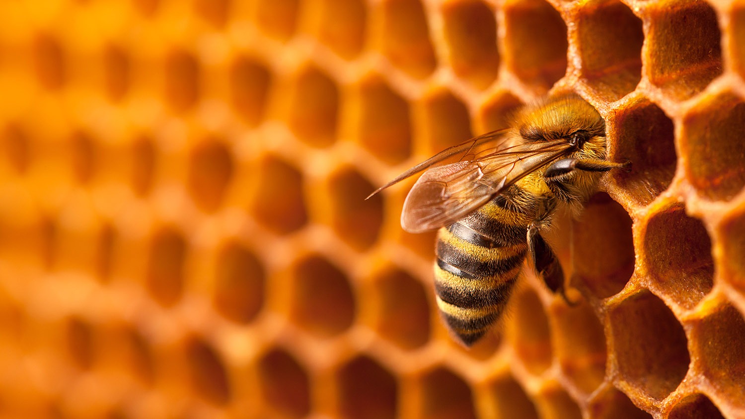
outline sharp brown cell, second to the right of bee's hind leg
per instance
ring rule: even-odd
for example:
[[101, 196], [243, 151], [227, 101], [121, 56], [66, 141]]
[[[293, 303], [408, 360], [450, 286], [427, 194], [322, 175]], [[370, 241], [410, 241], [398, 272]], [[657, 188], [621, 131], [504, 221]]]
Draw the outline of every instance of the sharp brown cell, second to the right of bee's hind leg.
[[675, 206], [654, 214], [644, 233], [642, 255], [650, 287], [690, 310], [714, 285], [711, 240], [703, 224]]

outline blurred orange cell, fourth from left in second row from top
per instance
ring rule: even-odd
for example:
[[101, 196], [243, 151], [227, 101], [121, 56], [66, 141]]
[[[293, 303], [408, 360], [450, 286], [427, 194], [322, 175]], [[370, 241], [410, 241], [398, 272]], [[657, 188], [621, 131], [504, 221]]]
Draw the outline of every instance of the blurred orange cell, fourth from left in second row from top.
[[264, 118], [272, 74], [253, 58], [239, 56], [228, 69], [230, 104], [249, 125], [256, 126]]

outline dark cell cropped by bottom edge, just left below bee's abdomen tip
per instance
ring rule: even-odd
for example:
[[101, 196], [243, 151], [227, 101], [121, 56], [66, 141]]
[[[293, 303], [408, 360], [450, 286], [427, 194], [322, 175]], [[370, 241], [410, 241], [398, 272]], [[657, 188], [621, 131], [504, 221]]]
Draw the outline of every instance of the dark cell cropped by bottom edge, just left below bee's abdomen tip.
[[471, 388], [462, 378], [445, 368], [422, 377], [422, 418], [476, 418]]

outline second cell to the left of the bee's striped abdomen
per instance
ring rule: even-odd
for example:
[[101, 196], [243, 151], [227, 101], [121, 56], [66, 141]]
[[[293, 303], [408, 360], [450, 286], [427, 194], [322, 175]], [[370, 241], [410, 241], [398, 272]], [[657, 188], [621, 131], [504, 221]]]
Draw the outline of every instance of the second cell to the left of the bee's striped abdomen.
[[295, 263], [292, 278], [291, 319], [317, 336], [343, 332], [355, 319], [355, 295], [349, 280], [320, 256]]

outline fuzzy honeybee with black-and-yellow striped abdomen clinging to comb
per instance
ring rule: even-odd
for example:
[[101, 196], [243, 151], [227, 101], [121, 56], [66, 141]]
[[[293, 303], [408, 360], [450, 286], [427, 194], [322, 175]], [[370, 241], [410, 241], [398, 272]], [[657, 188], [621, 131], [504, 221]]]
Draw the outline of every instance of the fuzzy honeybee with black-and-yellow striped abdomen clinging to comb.
[[510, 128], [449, 147], [370, 194], [426, 170], [401, 225], [411, 233], [439, 228], [437, 307], [463, 345], [500, 318], [528, 254], [546, 287], [566, 300], [562, 267], [542, 234], [559, 208], [577, 214], [603, 173], [630, 167], [606, 159], [605, 128], [577, 95], [551, 97], [517, 112]]

